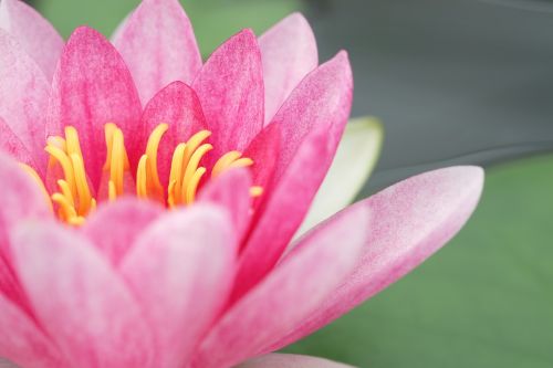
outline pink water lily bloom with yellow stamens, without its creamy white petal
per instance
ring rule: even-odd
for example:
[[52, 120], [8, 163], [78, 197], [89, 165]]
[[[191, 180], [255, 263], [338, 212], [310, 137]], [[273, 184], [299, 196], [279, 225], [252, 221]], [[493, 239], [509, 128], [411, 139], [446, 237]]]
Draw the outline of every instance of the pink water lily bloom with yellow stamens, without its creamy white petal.
[[[299, 14], [204, 64], [175, 0], [143, 1], [114, 45], [85, 27], [63, 44], [17, 0], [0, 28], [0, 356], [21, 367], [265, 355], [409, 272], [478, 202], [481, 169], [437, 170], [290, 244], [352, 102], [346, 53], [317, 65]], [[243, 365], [286, 366], [341, 367]]]

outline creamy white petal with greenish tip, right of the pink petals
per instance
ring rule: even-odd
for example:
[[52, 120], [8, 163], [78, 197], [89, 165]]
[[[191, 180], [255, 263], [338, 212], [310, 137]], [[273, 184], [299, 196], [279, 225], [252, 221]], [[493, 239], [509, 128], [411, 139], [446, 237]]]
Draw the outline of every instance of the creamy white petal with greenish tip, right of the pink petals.
[[382, 125], [374, 118], [352, 119], [346, 125], [331, 169], [298, 234], [353, 202], [376, 166], [383, 136]]

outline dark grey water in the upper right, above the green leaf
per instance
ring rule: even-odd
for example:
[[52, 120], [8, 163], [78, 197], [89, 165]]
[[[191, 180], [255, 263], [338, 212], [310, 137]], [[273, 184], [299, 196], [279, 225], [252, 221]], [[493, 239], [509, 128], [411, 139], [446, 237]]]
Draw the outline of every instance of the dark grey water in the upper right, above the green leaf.
[[323, 60], [349, 51], [354, 115], [386, 128], [371, 189], [553, 148], [553, 2], [313, 0]]

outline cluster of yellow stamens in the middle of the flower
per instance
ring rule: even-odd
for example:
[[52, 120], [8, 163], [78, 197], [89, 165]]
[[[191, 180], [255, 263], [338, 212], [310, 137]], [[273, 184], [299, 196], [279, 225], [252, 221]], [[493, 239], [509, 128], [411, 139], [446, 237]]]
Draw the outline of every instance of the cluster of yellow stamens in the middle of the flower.
[[[107, 153], [102, 182], [106, 183], [107, 188], [100, 188], [98, 193], [105, 192], [104, 197], [114, 201], [117, 197], [135, 192], [138, 198], [159, 201], [169, 209], [191, 204], [207, 172], [206, 167], [201, 166], [202, 158], [213, 149], [210, 144], [206, 143], [211, 133], [200, 130], [186, 143], [177, 145], [173, 153], [168, 186], [164, 188], [159, 178], [157, 156], [161, 138], [168, 129], [167, 124], [159, 124], [152, 132], [146, 153], [138, 161], [134, 180], [123, 132], [113, 123], [106, 124], [104, 130]], [[96, 208], [96, 198], [93, 197], [88, 185], [79, 133], [74, 127], [67, 126], [64, 134], [64, 137], [49, 137], [45, 147], [50, 155], [45, 182], [53, 182], [51, 186], [54, 188], [53, 193], [46, 190], [46, 186], [34, 169], [24, 164], [21, 166], [39, 182], [60, 220], [80, 225]], [[232, 150], [216, 161], [210, 177], [217, 178], [230, 168], [252, 165], [252, 159]], [[263, 189], [258, 186], [250, 189], [252, 197], [259, 197], [262, 192]]]

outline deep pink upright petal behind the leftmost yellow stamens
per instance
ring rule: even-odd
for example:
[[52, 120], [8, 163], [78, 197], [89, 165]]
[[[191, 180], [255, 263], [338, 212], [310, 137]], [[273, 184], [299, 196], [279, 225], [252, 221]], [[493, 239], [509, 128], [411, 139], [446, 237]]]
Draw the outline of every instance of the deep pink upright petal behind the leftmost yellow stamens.
[[87, 174], [95, 189], [106, 157], [104, 125], [115, 123], [125, 135], [132, 162], [139, 156], [137, 134], [142, 107], [123, 59], [93, 29], [81, 27], [67, 41], [54, 75], [49, 134], [65, 126], [80, 133]]

